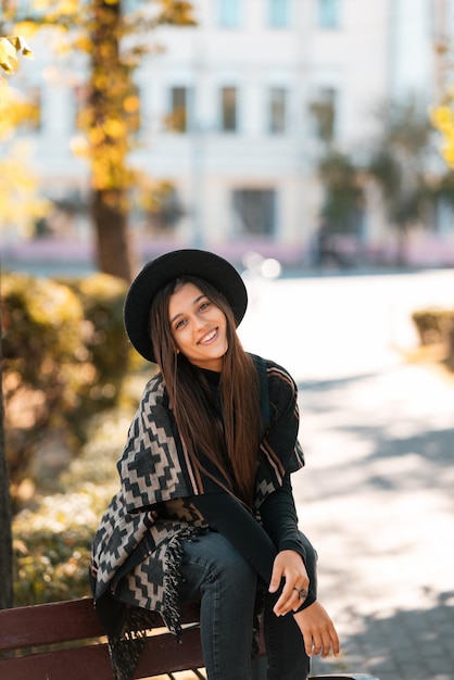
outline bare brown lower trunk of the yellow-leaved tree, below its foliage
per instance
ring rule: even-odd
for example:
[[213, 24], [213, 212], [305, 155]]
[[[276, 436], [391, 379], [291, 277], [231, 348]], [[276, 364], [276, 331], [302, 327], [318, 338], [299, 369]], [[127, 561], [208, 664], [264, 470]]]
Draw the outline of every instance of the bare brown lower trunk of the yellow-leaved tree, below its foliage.
[[[115, 197], [112, 201], [113, 193]], [[92, 216], [97, 235], [97, 264], [100, 272], [131, 281], [134, 266], [127, 216], [119, 209], [119, 190], [98, 190], [93, 193]]]

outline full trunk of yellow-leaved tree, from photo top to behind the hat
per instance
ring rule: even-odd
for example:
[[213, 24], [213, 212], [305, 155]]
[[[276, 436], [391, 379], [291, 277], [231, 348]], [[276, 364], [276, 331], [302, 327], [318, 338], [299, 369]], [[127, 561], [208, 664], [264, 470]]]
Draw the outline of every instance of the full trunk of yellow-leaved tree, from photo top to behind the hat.
[[123, 64], [121, 2], [92, 0], [89, 137], [93, 140], [92, 216], [97, 264], [101, 272], [127, 281], [133, 277], [127, 225], [128, 126], [124, 102], [131, 88], [130, 68]]

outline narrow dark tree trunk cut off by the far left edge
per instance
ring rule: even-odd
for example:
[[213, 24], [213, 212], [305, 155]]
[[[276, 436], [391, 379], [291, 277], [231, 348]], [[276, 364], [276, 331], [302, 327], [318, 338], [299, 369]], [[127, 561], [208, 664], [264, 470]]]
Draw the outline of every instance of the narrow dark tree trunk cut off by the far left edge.
[[[1, 326], [1, 311], [0, 311]], [[0, 348], [0, 387], [2, 378]], [[3, 437], [3, 392], [0, 389], [0, 609], [13, 606], [13, 547], [11, 532], [10, 478]]]

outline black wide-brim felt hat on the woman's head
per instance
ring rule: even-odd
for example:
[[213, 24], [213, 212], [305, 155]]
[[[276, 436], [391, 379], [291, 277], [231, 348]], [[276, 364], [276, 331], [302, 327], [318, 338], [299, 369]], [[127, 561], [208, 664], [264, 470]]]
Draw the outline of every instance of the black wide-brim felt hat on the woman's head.
[[216, 288], [226, 299], [237, 323], [248, 306], [248, 292], [237, 269], [224, 257], [205, 250], [175, 250], [152, 260], [137, 275], [125, 299], [123, 318], [136, 350], [155, 363], [150, 337], [150, 307], [157, 291], [181, 276], [197, 276]]

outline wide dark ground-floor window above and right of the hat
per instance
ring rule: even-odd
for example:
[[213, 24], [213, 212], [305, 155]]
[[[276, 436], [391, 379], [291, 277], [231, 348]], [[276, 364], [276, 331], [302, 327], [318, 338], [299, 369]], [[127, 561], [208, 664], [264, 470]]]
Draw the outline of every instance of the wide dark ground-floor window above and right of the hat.
[[273, 236], [275, 234], [275, 189], [235, 189], [232, 204], [237, 235]]

